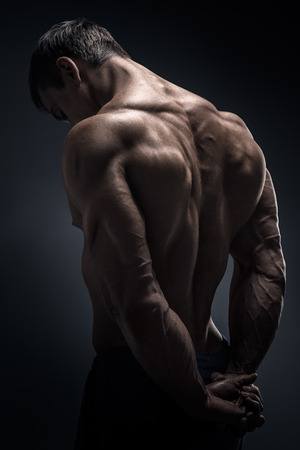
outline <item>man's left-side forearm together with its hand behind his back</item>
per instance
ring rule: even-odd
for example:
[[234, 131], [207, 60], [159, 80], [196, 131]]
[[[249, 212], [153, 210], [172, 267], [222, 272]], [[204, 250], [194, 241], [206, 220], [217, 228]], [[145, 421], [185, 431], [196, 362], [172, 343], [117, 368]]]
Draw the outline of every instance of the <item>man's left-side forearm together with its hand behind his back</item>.
[[[150, 297], [133, 301], [136, 308], [127, 316], [115, 316], [136, 359], [187, 414], [227, 425], [238, 423], [245, 417], [245, 406], [227, 400], [223, 389], [215, 395], [211, 385], [204, 385], [186, 327], [168, 307], [158, 284], [154, 282], [151, 291]], [[239, 382], [242, 386], [254, 379], [250, 375]], [[237, 394], [236, 385], [233, 394]]]

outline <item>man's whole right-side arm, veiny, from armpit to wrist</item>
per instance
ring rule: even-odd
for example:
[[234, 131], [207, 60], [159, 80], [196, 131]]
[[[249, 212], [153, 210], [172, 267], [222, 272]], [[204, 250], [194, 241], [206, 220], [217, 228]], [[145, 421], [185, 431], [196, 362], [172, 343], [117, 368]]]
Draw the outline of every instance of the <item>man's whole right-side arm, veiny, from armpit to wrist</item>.
[[229, 329], [232, 360], [228, 372], [256, 371], [278, 328], [285, 290], [274, 187], [266, 172], [256, 210], [231, 245], [234, 274], [230, 290]]

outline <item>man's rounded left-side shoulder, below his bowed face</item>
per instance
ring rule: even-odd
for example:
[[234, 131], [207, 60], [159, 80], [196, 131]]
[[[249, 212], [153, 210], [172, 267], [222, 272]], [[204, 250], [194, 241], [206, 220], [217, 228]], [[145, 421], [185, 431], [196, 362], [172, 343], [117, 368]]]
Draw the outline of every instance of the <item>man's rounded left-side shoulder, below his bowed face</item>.
[[123, 112], [98, 114], [76, 124], [63, 146], [63, 182], [68, 195], [93, 189], [117, 167], [122, 170], [144, 128], [139, 116]]

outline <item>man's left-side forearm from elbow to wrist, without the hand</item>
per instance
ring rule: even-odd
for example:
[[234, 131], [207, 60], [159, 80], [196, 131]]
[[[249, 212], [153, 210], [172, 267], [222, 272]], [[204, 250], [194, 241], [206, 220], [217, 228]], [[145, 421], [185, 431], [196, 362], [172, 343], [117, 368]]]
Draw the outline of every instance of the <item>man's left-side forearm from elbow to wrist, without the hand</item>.
[[[107, 303], [113, 304], [108, 305], [109, 309], [114, 310], [114, 320], [130, 349], [148, 375], [174, 401], [188, 414], [203, 417], [207, 393], [185, 325], [169, 308], [150, 273], [144, 274], [142, 280], [136, 277], [130, 281], [129, 275], [126, 279], [127, 288], [124, 289], [123, 280], [122, 292], [116, 285], [111, 286], [105, 297]], [[127, 301], [129, 308], [125, 306]]]

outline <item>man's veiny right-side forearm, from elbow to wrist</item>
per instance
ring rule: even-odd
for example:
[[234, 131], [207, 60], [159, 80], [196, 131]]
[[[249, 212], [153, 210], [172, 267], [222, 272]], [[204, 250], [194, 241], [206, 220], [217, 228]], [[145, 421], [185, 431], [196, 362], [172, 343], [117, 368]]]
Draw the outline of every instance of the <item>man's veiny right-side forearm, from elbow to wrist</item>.
[[236, 269], [229, 308], [228, 373], [256, 372], [276, 334], [283, 306], [284, 273], [278, 277]]

